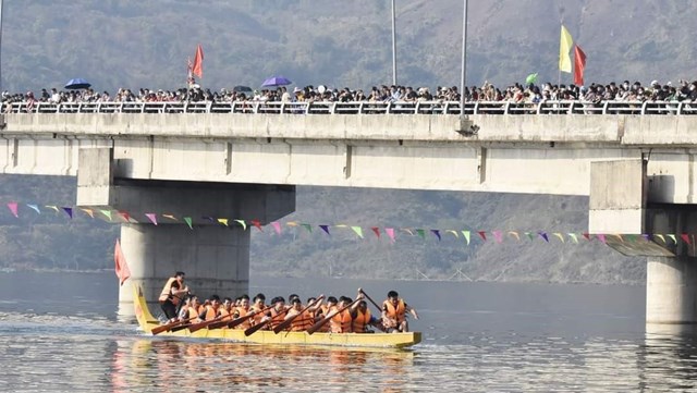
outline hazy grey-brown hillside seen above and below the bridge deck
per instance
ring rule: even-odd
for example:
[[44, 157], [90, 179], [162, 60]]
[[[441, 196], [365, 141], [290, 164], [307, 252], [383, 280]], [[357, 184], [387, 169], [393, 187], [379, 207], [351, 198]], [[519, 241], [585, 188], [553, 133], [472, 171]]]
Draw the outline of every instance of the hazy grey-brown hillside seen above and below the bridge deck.
[[[458, 85], [461, 0], [398, 1], [399, 82]], [[533, 72], [557, 82], [560, 22], [588, 56], [587, 81], [697, 78], [692, 26], [696, 2], [669, 0], [492, 0], [469, 2], [468, 84], [522, 82]], [[392, 79], [390, 2], [375, 0], [46, 0], [8, 1], [1, 83], [11, 91], [60, 87], [72, 77], [98, 90], [176, 88], [186, 58], [205, 51], [205, 87], [258, 87], [283, 74], [295, 85], [369, 87]], [[564, 74], [561, 81], [568, 83]], [[74, 201], [74, 179], [1, 176], [0, 200]], [[52, 189], [50, 198], [46, 189]], [[584, 232], [587, 198], [419, 191], [298, 188], [290, 219], [314, 224], [525, 232]], [[0, 265], [109, 268], [118, 228], [58, 214], [0, 214]], [[643, 260], [598, 242], [509, 241], [463, 245], [443, 235], [356, 241], [285, 231], [254, 233], [253, 273], [474, 280], [631, 282]], [[331, 268], [330, 268], [331, 263]], [[417, 273], [417, 269], [420, 273]]]

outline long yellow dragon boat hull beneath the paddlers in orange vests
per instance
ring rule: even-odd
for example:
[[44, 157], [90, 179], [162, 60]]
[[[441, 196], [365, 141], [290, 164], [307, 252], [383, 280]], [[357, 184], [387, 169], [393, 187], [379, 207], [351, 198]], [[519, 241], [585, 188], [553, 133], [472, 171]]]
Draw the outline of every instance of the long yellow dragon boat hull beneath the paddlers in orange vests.
[[[150, 314], [143, 291], [134, 286], [135, 316], [140, 329], [147, 334], [152, 334], [152, 329], [160, 326], [160, 322]], [[244, 330], [239, 329], [200, 329], [189, 332], [188, 329], [176, 331], [164, 331], [158, 335], [178, 336], [192, 339], [216, 339], [233, 341], [240, 343], [256, 344], [290, 344], [290, 345], [332, 345], [353, 347], [387, 347], [405, 348], [421, 342], [420, 332], [408, 333], [314, 333], [307, 332], [280, 332], [278, 334], [270, 330], [259, 330], [248, 336], [244, 335]]]

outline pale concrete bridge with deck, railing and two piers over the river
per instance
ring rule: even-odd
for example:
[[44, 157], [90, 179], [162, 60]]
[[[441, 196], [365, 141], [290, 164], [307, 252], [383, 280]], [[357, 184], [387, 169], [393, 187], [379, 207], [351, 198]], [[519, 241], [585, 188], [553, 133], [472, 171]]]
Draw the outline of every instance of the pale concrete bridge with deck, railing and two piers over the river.
[[[484, 113], [465, 108], [464, 121], [442, 102], [396, 112], [362, 103], [118, 106], [24, 113], [14, 105], [2, 119], [0, 168], [77, 175], [82, 207], [194, 217], [194, 232], [122, 224], [131, 281], [151, 300], [175, 270], [199, 294], [246, 292], [249, 232], [204, 217], [267, 223], [294, 210], [298, 184], [585, 195], [590, 233], [697, 232], [697, 116], [688, 105], [499, 102]], [[697, 323], [694, 247], [608, 243], [647, 257], [647, 322]], [[127, 310], [126, 286], [120, 302]]]

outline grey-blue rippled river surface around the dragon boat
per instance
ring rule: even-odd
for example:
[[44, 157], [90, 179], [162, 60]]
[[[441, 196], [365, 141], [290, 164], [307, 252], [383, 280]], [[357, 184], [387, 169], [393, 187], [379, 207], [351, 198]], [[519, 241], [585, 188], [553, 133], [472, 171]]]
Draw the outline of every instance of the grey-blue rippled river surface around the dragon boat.
[[[409, 351], [269, 347], [142, 336], [117, 320], [108, 273], [0, 273], [3, 392], [697, 391], [697, 334], [647, 332], [643, 286], [255, 279], [421, 317]], [[222, 295], [222, 294], [221, 294]]]

